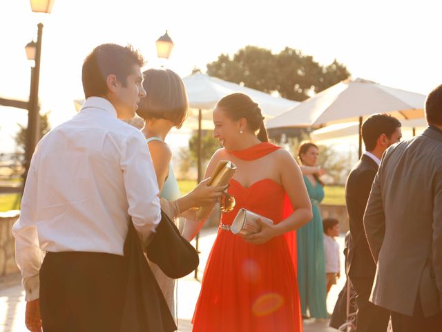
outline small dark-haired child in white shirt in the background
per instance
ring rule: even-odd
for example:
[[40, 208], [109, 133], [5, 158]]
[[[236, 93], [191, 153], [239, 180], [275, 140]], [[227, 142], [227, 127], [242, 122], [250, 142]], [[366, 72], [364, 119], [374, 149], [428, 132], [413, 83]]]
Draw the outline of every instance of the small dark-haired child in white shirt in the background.
[[340, 277], [339, 244], [334, 237], [339, 236], [339, 221], [334, 218], [325, 218], [324, 227], [324, 252], [325, 252], [325, 275], [327, 281], [327, 293], [336, 279]]

